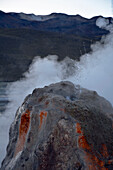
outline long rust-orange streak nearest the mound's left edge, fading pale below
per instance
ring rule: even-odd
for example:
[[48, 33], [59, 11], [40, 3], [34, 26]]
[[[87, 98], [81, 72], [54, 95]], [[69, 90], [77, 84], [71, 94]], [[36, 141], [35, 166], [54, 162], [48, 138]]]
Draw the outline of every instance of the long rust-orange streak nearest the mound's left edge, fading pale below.
[[16, 145], [15, 156], [18, 152], [23, 150], [26, 135], [29, 130], [30, 125], [30, 111], [27, 109], [21, 116], [20, 126], [19, 126], [19, 137]]

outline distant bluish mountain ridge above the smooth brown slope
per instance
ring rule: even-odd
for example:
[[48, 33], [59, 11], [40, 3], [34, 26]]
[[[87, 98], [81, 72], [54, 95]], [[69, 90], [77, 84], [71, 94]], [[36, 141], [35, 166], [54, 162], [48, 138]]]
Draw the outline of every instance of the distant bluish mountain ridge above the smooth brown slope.
[[[77, 35], [82, 34], [82, 36], [87, 34], [88, 36], [93, 37], [95, 34], [102, 35], [107, 33], [107, 31], [102, 30], [95, 25], [98, 17], [86, 19], [80, 15], [67, 15], [62, 13], [34, 15], [24, 13], [4, 13], [3, 11], [0, 11], [0, 28], [27, 28], [38, 31], [61, 32]], [[110, 20], [110, 18], [108, 19]]]

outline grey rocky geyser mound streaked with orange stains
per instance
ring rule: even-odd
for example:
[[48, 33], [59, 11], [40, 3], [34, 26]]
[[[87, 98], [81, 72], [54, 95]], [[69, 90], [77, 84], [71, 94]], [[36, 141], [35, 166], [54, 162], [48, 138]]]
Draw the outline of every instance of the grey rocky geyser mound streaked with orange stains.
[[17, 110], [1, 170], [113, 170], [113, 108], [95, 91], [60, 82]]

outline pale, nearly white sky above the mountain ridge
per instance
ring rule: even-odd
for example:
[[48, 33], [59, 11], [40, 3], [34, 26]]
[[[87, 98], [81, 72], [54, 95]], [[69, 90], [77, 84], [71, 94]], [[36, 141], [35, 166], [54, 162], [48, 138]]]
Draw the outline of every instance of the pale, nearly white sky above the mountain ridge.
[[113, 16], [113, 0], [0, 0], [0, 10], [47, 15], [52, 12], [82, 15], [91, 18], [97, 15]]

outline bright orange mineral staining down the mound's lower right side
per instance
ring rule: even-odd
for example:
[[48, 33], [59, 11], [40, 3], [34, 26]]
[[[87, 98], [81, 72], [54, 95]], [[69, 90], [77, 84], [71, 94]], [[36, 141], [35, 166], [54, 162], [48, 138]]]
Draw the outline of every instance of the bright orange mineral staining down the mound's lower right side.
[[[82, 132], [80, 123], [76, 123], [76, 132], [80, 134], [78, 137], [78, 145], [79, 145], [79, 148], [84, 150], [84, 153], [85, 153], [84, 159], [86, 162], [86, 166], [88, 167], [88, 170], [96, 170], [96, 169], [108, 170], [108, 168], [104, 167], [105, 162], [97, 158], [97, 156], [95, 156], [92, 146], [88, 144]], [[102, 156], [104, 158], [108, 157], [107, 147], [105, 144], [102, 145]]]

